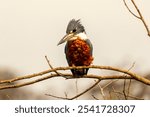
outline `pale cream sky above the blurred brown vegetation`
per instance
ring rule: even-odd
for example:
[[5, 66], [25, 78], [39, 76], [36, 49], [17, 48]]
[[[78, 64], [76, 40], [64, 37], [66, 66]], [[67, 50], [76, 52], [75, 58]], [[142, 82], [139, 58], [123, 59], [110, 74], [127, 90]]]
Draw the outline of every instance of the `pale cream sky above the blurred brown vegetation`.
[[[135, 2], [150, 27], [150, 0]], [[72, 18], [81, 19], [93, 43], [93, 64], [129, 68], [136, 62], [133, 70], [150, 71], [150, 37], [123, 0], [0, 0], [0, 67], [43, 71], [45, 55], [54, 67], [67, 66], [57, 43]]]

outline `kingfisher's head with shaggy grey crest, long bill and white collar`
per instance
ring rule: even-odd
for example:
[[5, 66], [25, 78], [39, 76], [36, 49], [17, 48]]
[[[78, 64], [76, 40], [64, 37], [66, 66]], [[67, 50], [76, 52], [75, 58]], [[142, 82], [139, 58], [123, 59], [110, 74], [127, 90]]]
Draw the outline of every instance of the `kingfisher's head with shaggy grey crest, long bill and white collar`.
[[81, 24], [80, 19], [72, 19], [67, 26], [66, 35], [59, 41], [58, 45], [66, 41], [74, 40], [77, 37], [80, 37], [81, 39], [87, 39], [85, 29]]

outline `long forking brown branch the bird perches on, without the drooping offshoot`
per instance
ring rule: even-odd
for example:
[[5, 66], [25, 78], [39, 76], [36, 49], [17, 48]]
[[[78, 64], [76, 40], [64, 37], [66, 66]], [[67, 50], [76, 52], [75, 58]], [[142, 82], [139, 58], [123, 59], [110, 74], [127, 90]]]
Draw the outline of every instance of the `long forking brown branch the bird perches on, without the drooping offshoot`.
[[[110, 67], [110, 66], [98, 66], [98, 65], [91, 65], [91, 66], [79, 66], [79, 67], [57, 67], [57, 68], [53, 68], [50, 70], [45, 70], [39, 73], [35, 73], [35, 74], [31, 74], [31, 75], [27, 75], [27, 76], [22, 76], [22, 77], [17, 77], [17, 78], [13, 78], [10, 80], [1, 80], [0, 84], [2, 86], [0, 86], [0, 90], [2, 89], [8, 89], [8, 88], [18, 88], [18, 87], [22, 87], [22, 86], [26, 86], [26, 85], [31, 85], [49, 78], [55, 78], [55, 77], [60, 77], [59, 74], [50, 74], [47, 76], [42, 76], [51, 72], [55, 72], [55, 71], [60, 71], [60, 70], [70, 70], [70, 69], [81, 69], [81, 68], [91, 68], [91, 69], [104, 69], [104, 70], [111, 70], [111, 71], [116, 71], [116, 72], [120, 72], [120, 73], [124, 73], [128, 76], [124, 76], [124, 75], [110, 75], [110, 76], [100, 76], [100, 75], [86, 75], [82, 78], [90, 78], [90, 79], [99, 79], [99, 80], [108, 80], [108, 79], [134, 79], [137, 81], [140, 81], [146, 85], [150, 85], [150, 80], [139, 76], [135, 73], [130, 72], [129, 70], [123, 70], [123, 69], [119, 69], [119, 68], [115, 68], [115, 67]], [[36, 76], [42, 76], [41, 78], [36, 78]], [[72, 74], [62, 74], [61, 76], [65, 76], [65, 78], [69, 79], [76, 79], [72, 76]], [[12, 83], [12, 82], [16, 82], [19, 80], [24, 80], [24, 79], [33, 79], [32, 81], [28, 81], [25, 83], [20, 83], [20, 84], [14, 84], [14, 85], [8, 85], [5, 83]]]

